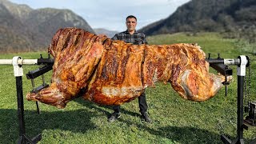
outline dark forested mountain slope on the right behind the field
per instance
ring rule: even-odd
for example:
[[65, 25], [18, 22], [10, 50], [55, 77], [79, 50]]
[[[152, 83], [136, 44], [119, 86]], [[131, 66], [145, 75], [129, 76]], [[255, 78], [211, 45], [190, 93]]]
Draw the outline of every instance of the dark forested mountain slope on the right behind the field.
[[192, 0], [178, 7], [168, 18], [143, 27], [146, 35], [182, 31], [254, 32], [255, 0]]

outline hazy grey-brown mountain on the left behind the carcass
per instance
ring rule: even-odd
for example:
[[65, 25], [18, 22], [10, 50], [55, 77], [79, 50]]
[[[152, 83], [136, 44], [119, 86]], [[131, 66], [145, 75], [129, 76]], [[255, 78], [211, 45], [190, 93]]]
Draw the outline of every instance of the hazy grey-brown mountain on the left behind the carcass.
[[31, 9], [0, 0], [0, 52], [46, 50], [54, 33], [78, 27], [94, 33], [90, 25], [71, 10]]

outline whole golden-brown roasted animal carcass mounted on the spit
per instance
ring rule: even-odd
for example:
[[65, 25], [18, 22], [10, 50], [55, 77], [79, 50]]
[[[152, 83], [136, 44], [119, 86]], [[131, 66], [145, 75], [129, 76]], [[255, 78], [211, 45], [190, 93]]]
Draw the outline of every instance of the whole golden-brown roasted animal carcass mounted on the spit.
[[224, 76], [210, 74], [209, 63], [195, 44], [133, 45], [77, 28], [54, 34], [52, 83], [28, 100], [64, 108], [83, 98], [102, 105], [120, 105], [142, 94], [154, 82], [170, 82], [182, 96], [205, 101], [222, 87]]

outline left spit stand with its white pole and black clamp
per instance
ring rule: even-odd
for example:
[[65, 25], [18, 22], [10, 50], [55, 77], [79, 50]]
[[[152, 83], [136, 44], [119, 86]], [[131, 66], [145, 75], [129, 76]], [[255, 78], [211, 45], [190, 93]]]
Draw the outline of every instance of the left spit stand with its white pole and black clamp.
[[[0, 59], [0, 65], [13, 65], [14, 66], [14, 77], [16, 78], [16, 91], [17, 91], [17, 102], [18, 102], [18, 130], [19, 138], [18, 143], [37, 143], [42, 139], [42, 134], [36, 135], [34, 138], [30, 139], [26, 136], [25, 131], [25, 121], [24, 121], [24, 102], [23, 102], [23, 90], [22, 90], [22, 76], [23, 69], [22, 65], [46, 65], [45, 68], [41, 70], [35, 70], [26, 74], [28, 79], [34, 79], [39, 75], [46, 73], [52, 69], [54, 59], [50, 58], [38, 58], [38, 59], [22, 59], [20, 56], [15, 56], [13, 59]], [[45, 83], [43, 83], [45, 84]], [[42, 87], [42, 86], [41, 86]], [[43, 88], [43, 87], [42, 87]], [[37, 103], [38, 108], [38, 103]], [[38, 109], [39, 114], [39, 109]]]

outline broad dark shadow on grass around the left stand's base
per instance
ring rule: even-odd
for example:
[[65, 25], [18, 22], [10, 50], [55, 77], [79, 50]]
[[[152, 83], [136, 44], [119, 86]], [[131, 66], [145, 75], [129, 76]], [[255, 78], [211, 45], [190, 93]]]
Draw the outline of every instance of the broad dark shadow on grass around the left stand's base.
[[[0, 143], [17, 143], [18, 140], [18, 114], [14, 109], [0, 109]], [[25, 110], [26, 136], [33, 138], [42, 134], [42, 130], [67, 130], [74, 133], [86, 133], [95, 129], [90, 121], [97, 112], [87, 110], [74, 111], [42, 111]], [[42, 136], [43, 137], [43, 136]]]

